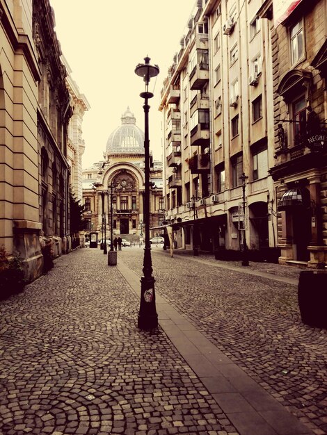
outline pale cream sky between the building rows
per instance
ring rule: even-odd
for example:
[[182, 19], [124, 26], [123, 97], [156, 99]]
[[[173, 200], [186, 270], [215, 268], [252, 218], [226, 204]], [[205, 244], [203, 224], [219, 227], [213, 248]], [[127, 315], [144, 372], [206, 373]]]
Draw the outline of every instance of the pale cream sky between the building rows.
[[50, 0], [61, 51], [91, 108], [83, 117], [83, 168], [102, 160], [106, 141], [129, 106], [144, 131], [144, 82], [134, 69], [145, 56], [160, 74], [150, 81], [150, 149], [161, 160], [160, 92], [195, 0]]

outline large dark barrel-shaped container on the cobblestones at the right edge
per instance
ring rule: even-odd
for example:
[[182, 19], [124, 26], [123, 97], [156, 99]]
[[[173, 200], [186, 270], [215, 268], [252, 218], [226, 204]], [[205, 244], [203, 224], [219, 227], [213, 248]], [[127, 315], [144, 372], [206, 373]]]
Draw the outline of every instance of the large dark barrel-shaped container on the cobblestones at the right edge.
[[298, 306], [303, 323], [312, 327], [327, 328], [327, 272], [300, 272]]

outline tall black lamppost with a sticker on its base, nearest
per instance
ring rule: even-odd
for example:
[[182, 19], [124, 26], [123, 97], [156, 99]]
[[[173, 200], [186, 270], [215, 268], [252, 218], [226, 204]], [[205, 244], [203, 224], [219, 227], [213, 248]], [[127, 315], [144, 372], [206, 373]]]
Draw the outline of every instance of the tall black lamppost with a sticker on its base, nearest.
[[140, 329], [153, 329], [158, 326], [156, 310], [156, 297], [154, 293], [154, 277], [152, 277], [152, 260], [150, 245], [150, 140], [149, 140], [149, 109], [148, 99], [153, 97], [149, 92], [149, 82], [152, 77], [159, 74], [157, 65], [150, 65], [150, 58], [144, 58], [145, 63], [136, 65], [135, 74], [143, 78], [145, 92], [140, 97], [144, 99], [144, 158], [145, 158], [145, 191], [144, 191], [144, 220], [145, 220], [145, 248], [143, 258], [143, 277], [141, 277], [141, 301], [138, 312], [138, 327]]

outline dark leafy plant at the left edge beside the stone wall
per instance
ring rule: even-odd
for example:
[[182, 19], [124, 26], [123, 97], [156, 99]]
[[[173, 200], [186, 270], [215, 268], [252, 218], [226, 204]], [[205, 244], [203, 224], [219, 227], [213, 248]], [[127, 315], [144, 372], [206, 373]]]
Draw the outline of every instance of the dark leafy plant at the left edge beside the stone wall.
[[4, 246], [0, 247], [0, 298], [22, 292], [27, 280], [23, 261], [18, 255], [10, 255]]

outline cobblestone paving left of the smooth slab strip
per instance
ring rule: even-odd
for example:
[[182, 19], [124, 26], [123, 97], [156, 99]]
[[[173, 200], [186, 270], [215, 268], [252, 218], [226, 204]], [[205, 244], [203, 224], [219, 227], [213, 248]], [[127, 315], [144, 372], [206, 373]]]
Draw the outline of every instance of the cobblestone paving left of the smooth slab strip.
[[99, 249], [1, 301], [0, 433], [237, 435], [162, 329], [138, 330], [138, 304]]

